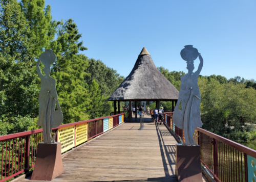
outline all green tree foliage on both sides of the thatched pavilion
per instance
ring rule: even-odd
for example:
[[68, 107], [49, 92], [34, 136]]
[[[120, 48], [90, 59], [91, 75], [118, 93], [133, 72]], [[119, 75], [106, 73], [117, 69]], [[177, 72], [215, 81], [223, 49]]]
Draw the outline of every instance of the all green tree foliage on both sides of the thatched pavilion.
[[[87, 50], [81, 36], [74, 20], [53, 19], [44, 0], [0, 0], [0, 135], [37, 127], [40, 80], [35, 64], [45, 49], [52, 49], [57, 56], [51, 76], [57, 80], [63, 123], [113, 111], [113, 102], [106, 99], [124, 77], [102, 61], [81, 54]], [[180, 89], [183, 71], [163, 67], [159, 71]], [[200, 75], [198, 85], [203, 128], [236, 141], [256, 139], [254, 80]], [[160, 106], [172, 110], [172, 102], [160, 102]], [[150, 108], [154, 109], [155, 103]]]

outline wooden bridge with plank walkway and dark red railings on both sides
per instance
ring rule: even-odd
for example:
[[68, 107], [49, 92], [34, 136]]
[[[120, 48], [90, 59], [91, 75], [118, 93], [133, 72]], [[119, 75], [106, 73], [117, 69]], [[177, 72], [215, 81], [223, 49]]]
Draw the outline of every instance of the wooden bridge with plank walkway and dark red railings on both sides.
[[[164, 113], [162, 125], [145, 117], [142, 130], [138, 130], [139, 118], [124, 122], [124, 113], [54, 128], [61, 142], [65, 172], [53, 181], [177, 181], [175, 144], [179, 142], [177, 136], [184, 140], [183, 131], [173, 123], [172, 113]], [[197, 129], [207, 179], [256, 179], [255, 150]], [[42, 129], [0, 136], [0, 182], [24, 173], [26, 178], [22, 175], [15, 181], [32, 181], [29, 175], [41, 141]], [[203, 176], [203, 181], [207, 179]]]

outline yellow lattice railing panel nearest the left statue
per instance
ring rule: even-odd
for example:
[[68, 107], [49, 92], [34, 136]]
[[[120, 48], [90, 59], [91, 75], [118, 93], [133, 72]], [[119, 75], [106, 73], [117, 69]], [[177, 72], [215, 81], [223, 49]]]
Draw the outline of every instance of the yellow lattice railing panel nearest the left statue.
[[59, 128], [58, 141], [61, 143], [61, 153], [75, 147], [75, 126]]

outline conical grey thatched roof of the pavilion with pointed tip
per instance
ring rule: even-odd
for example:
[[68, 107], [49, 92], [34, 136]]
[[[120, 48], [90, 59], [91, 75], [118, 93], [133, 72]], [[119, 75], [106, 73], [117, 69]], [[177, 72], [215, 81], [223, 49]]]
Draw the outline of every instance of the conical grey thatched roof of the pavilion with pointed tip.
[[108, 100], [177, 100], [179, 91], [157, 69], [144, 47], [133, 70]]

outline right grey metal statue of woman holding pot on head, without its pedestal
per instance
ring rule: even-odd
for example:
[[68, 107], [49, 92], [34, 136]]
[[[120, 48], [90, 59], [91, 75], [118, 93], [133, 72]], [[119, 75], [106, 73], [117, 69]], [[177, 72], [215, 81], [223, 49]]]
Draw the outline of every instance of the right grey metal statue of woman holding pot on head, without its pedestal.
[[[203, 68], [203, 58], [193, 45], [186, 45], [181, 50], [181, 57], [187, 62], [188, 73], [181, 76], [181, 86], [177, 105], [173, 113], [173, 122], [184, 129], [185, 145], [196, 145], [193, 138], [196, 127], [202, 126], [200, 116], [201, 95], [198, 88], [198, 76]], [[194, 60], [199, 57], [198, 70], [193, 72]]]

